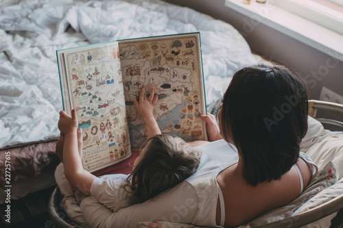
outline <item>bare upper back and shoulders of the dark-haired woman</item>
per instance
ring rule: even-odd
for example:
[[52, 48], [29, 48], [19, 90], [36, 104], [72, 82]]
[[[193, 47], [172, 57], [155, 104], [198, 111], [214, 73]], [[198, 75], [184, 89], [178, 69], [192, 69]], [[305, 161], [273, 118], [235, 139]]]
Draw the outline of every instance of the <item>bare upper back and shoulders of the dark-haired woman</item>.
[[[311, 179], [311, 170], [301, 158], [296, 165], [300, 170], [303, 189], [305, 189]], [[285, 173], [280, 180], [251, 186], [242, 177], [239, 166], [239, 163], [234, 164], [217, 176], [217, 183], [224, 195], [225, 227], [236, 227], [246, 223], [264, 212], [290, 203], [300, 194], [300, 177], [295, 167]], [[218, 198], [217, 225], [220, 225], [220, 214]]]

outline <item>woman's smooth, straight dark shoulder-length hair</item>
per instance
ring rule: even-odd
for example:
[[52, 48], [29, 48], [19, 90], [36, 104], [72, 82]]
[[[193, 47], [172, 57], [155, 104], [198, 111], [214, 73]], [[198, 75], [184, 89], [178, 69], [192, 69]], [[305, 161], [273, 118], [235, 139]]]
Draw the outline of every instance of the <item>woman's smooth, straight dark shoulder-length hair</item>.
[[280, 179], [297, 162], [307, 100], [305, 82], [285, 66], [260, 64], [235, 73], [224, 94], [222, 131], [237, 147], [250, 185]]

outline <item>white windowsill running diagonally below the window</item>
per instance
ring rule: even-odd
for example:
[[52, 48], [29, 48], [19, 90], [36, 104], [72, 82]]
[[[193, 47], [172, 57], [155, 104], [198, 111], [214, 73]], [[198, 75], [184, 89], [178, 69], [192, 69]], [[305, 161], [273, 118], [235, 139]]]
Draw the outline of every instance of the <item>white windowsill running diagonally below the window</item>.
[[250, 17], [252, 25], [262, 23], [272, 27], [343, 62], [343, 35], [283, 10], [277, 5], [268, 2], [257, 3], [255, 0], [247, 5], [242, 1], [226, 0], [225, 5]]

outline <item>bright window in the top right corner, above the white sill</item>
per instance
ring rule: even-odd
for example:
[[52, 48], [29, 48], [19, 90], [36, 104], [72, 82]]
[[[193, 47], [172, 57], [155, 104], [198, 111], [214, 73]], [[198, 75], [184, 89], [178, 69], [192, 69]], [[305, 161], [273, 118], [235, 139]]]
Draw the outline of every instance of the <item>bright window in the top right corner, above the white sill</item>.
[[343, 34], [343, 0], [275, 0], [275, 3], [280, 8]]

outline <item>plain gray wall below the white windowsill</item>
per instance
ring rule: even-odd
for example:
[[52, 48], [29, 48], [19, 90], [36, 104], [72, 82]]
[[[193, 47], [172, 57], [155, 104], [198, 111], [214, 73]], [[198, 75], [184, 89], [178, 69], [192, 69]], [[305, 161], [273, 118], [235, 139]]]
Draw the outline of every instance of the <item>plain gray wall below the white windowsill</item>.
[[[327, 53], [309, 47], [271, 27], [251, 21], [251, 18], [227, 8], [224, 0], [166, 1], [193, 8], [233, 25], [244, 36], [253, 52], [285, 64], [301, 73], [307, 80], [310, 99], [319, 99], [322, 86], [343, 96], [343, 62]], [[255, 24], [249, 26], [249, 22], [255, 22]], [[340, 56], [341, 59], [342, 57]], [[326, 112], [318, 112], [318, 114], [322, 117], [333, 117], [343, 121], [343, 115], [340, 114], [333, 116]]]

